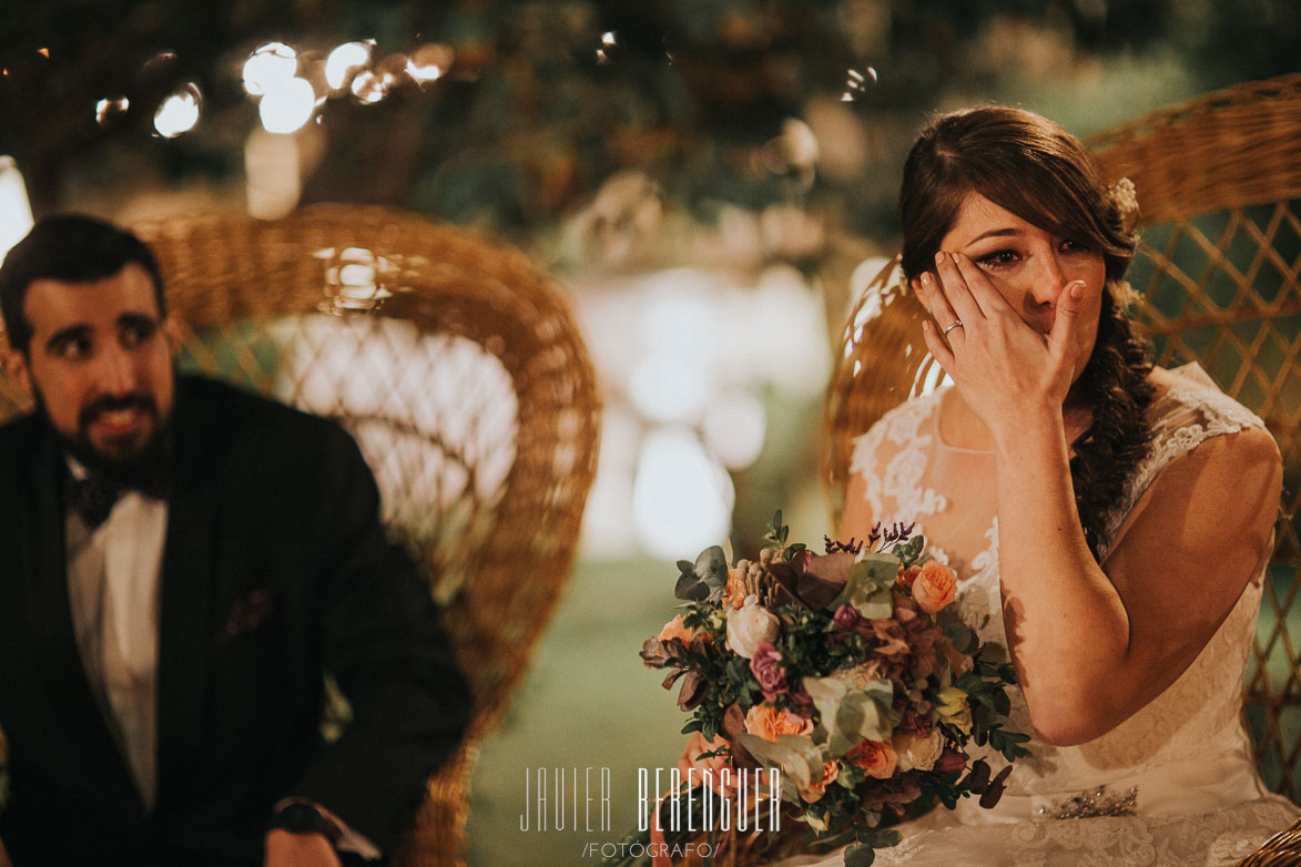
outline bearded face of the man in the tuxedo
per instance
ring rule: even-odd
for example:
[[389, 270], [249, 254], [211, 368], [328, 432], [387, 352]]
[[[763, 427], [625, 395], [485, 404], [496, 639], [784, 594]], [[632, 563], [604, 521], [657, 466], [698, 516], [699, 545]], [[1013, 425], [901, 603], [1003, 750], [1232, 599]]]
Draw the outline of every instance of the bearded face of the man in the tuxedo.
[[36, 279], [23, 313], [31, 343], [10, 354], [10, 373], [73, 454], [122, 468], [154, 451], [172, 415], [178, 339], [148, 273], [127, 263], [98, 281]]

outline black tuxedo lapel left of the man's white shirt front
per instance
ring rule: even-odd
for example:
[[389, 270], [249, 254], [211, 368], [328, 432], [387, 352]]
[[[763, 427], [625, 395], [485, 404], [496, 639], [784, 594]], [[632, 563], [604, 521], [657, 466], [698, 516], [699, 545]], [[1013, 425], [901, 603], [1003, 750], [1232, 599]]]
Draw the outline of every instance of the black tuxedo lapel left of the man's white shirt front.
[[31, 629], [34, 658], [48, 672], [43, 685], [53, 711], [48, 727], [52, 741], [49, 755], [64, 757], [66, 766], [61, 772], [72, 775], [69, 779], [85, 779], [88, 790], [98, 793], [108, 810], [122, 814], [124, 819], [139, 819], [143, 805], [104, 721], [77, 649], [60, 494], [68, 468], [52, 437], [42, 437], [36, 451], [25, 486], [31, 491], [33, 508], [23, 510], [26, 526], [21, 537], [26, 543], [26, 620]]

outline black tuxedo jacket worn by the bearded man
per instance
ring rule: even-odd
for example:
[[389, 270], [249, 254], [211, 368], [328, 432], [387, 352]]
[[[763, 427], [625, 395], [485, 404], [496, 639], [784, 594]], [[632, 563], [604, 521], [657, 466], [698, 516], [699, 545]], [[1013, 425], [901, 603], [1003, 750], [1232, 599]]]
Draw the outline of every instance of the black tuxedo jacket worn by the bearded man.
[[[180, 378], [160, 576], [157, 796], [146, 811], [73, 636], [66, 460], [0, 428], [0, 840], [29, 864], [262, 864], [272, 805], [324, 805], [385, 851], [470, 697], [379, 493], [336, 425]], [[323, 676], [350, 698], [321, 741]]]

